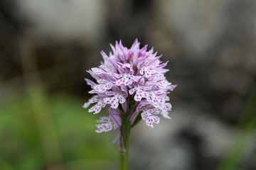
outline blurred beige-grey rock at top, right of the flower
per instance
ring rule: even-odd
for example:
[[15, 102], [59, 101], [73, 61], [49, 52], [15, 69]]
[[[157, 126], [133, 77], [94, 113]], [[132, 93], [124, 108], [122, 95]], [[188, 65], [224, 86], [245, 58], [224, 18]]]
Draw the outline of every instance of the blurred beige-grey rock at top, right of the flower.
[[227, 2], [162, 0], [156, 5], [159, 19], [177, 33], [187, 50], [200, 54], [206, 52], [223, 33], [228, 19], [225, 16]]

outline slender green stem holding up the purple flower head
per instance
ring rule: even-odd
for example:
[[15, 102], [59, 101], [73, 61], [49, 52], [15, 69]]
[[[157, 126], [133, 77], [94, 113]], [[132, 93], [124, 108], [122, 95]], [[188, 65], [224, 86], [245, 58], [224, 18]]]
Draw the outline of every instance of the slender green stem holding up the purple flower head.
[[119, 153], [119, 170], [127, 170], [127, 159], [128, 159], [128, 152], [129, 152], [129, 138], [131, 132], [131, 122], [126, 118], [123, 119], [122, 128], [121, 128], [121, 135], [124, 137], [124, 148], [125, 151], [120, 148]]

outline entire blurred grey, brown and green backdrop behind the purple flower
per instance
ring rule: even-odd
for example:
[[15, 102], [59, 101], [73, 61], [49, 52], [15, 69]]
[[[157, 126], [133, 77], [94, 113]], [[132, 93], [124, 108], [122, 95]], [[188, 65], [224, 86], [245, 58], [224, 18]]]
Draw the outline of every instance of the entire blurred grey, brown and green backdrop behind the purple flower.
[[255, 170], [255, 16], [254, 0], [1, 0], [0, 169], [117, 169], [85, 70], [138, 38], [178, 87], [172, 120], [132, 130], [128, 169]]

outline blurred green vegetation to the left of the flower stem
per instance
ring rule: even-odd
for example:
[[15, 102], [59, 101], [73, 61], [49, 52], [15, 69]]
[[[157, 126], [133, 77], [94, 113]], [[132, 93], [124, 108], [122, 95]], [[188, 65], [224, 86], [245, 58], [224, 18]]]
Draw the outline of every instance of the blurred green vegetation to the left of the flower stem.
[[[0, 105], [0, 169], [46, 169], [46, 164], [53, 169], [113, 169], [118, 155], [117, 145], [111, 142], [114, 134], [95, 133], [97, 115], [82, 108], [84, 100], [43, 94], [43, 104], [36, 103], [42, 102], [41, 88], [32, 88], [33, 94], [16, 94]], [[33, 105], [36, 111], [47, 112], [35, 113]], [[46, 120], [52, 121], [54, 129], [48, 128]], [[43, 144], [45, 140], [48, 143]], [[52, 148], [49, 141], [60, 149]]]

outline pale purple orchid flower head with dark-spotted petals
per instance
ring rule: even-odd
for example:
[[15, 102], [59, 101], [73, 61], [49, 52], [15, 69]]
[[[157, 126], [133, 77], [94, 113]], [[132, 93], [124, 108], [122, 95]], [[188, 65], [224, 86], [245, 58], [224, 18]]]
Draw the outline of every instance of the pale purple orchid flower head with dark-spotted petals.
[[158, 115], [169, 117], [171, 104], [167, 103], [169, 91], [176, 88], [166, 80], [164, 69], [167, 62], [162, 63], [153, 48], [147, 51], [147, 45], [139, 49], [136, 39], [130, 49], [122, 42], [116, 42], [112, 52], [107, 56], [101, 52], [103, 62], [89, 72], [97, 83], [85, 79], [92, 87], [90, 94], [95, 94], [84, 104], [84, 108], [94, 104], [89, 112], [99, 113], [107, 104], [110, 105], [110, 116], [97, 120], [96, 132], [107, 132], [122, 127], [123, 119], [135, 123], [142, 118], [146, 125], [153, 128], [159, 123]]

